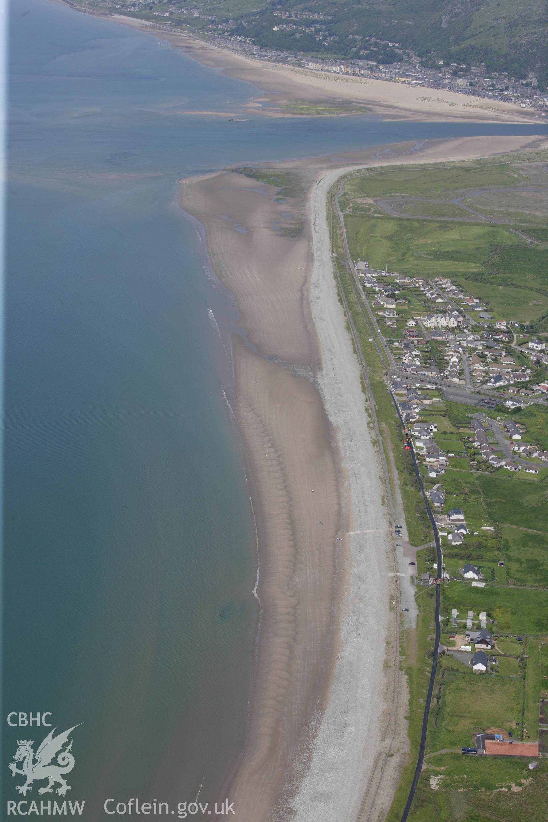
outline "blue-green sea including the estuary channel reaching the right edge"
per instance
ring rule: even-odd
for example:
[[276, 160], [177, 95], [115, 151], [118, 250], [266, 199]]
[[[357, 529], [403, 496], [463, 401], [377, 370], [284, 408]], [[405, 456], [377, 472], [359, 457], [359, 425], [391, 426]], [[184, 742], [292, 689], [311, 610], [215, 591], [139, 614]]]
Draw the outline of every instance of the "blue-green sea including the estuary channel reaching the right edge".
[[[85, 801], [95, 822], [133, 797], [177, 815], [220, 801], [242, 755], [261, 618], [231, 411], [242, 329], [178, 181], [542, 127], [228, 122], [260, 89], [154, 34], [50, 0], [14, 0], [9, 26], [2, 802]], [[69, 730], [67, 795], [17, 792], [18, 741], [36, 754]]]

